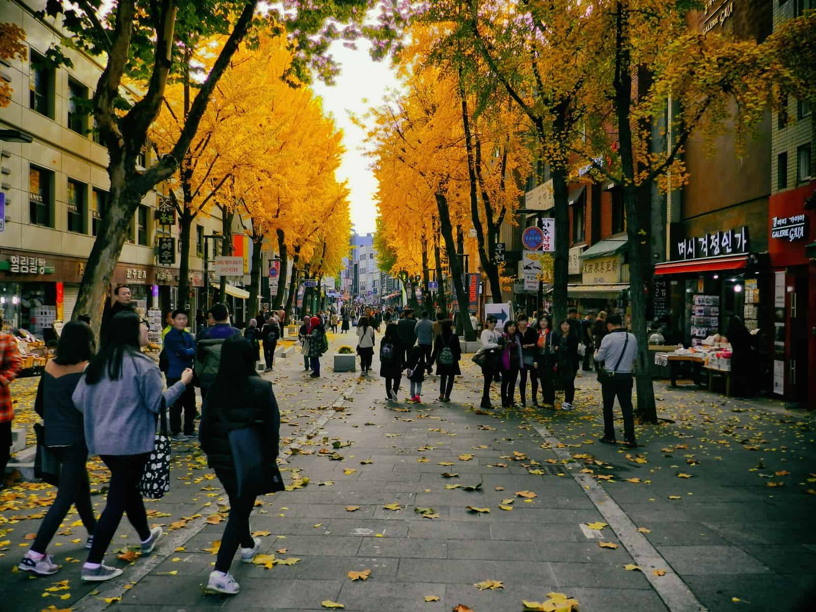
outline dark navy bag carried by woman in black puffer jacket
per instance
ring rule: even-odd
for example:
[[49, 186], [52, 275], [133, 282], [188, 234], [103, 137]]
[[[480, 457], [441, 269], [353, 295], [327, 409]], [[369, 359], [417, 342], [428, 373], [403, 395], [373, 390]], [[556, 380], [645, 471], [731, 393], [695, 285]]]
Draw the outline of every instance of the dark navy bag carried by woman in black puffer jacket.
[[[222, 416], [219, 419], [224, 423]], [[227, 434], [235, 464], [238, 497], [277, 493], [286, 488], [277, 463], [264, 461], [264, 441], [259, 424], [249, 423]]]

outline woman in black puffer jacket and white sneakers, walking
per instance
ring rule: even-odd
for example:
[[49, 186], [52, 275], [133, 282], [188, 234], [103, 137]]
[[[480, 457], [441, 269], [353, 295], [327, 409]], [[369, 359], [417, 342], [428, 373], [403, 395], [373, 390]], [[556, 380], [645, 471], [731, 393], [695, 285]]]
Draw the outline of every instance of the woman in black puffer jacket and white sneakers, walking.
[[233, 595], [238, 583], [228, 574], [237, 548], [241, 547], [241, 561], [251, 563], [260, 549], [260, 540], [250, 533], [250, 513], [255, 506], [255, 495], [237, 495], [237, 477], [233, 453], [229, 446], [229, 432], [255, 425], [264, 440], [264, 465], [273, 468], [280, 440], [281, 415], [277, 410], [272, 383], [259, 377], [255, 371], [257, 353], [250, 342], [241, 336], [228, 338], [221, 348], [218, 375], [206, 394], [202, 406], [202, 423], [198, 432], [207, 463], [229, 497], [229, 519], [221, 537], [221, 547], [210, 574], [208, 592]]

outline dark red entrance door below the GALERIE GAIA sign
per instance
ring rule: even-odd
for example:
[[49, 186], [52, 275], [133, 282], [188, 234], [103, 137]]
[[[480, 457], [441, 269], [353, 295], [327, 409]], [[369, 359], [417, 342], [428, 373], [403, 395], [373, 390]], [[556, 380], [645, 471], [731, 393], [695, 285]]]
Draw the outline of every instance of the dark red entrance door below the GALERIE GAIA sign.
[[807, 401], [808, 393], [808, 268], [785, 274], [785, 398]]

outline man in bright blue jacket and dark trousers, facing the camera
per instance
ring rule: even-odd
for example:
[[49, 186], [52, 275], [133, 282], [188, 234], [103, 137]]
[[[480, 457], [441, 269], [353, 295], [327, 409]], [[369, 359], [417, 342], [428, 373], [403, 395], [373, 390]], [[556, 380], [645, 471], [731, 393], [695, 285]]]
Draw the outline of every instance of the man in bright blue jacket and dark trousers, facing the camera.
[[[196, 356], [196, 340], [184, 328], [187, 313], [176, 309], [172, 314], [173, 327], [164, 336], [164, 353], [167, 356], [167, 387], [172, 387], [181, 379], [186, 368], [193, 367]], [[184, 432], [181, 431], [181, 411], [184, 409]], [[184, 388], [178, 400], [170, 407], [171, 440], [188, 441], [196, 435], [196, 390], [192, 384]]]

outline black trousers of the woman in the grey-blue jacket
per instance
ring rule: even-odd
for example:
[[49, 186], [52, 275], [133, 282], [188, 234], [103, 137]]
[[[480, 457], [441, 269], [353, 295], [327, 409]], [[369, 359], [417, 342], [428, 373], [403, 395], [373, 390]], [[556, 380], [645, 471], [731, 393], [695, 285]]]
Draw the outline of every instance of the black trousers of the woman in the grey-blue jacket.
[[88, 563], [102, 562], [102, 557], [122, 521], [123, 512], [127, 514], [127, 520], [131, 522], [143, 542], [150, 537], [148, 517], [144, 512], [142, 494], [139, 492], [139, 481], [149, 456], [149, 453], [100, 455], [100, 459], [110, 469], [108, 502], [105, 503], [102, 516], [96, 523], [94, 544], [88, 554]]

